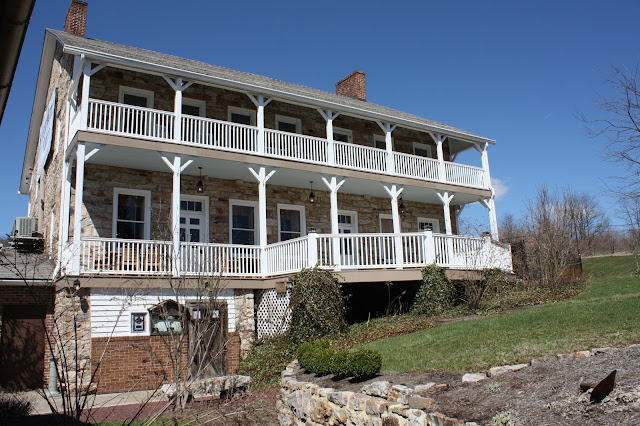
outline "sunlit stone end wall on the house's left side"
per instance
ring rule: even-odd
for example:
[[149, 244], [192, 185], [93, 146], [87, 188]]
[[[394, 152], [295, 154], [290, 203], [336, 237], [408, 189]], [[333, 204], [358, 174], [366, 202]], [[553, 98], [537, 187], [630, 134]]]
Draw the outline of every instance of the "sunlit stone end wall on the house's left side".
[[[73, 61], [72, 55], [63, 53], [62, 47], [56, 45], [45, 101], [46, 107], [55, 88], [56, 106], [51, 150], [48, 153], [49, 158], [41, 174], [38, 174], [35, 169], [38, 164], [38, 156], [45, 155], [45, 153], [36, 153], [30, 187], [31, 216], [37, 218], [38, 231], [44, 234], [47, 250], [51, 252], [54, 258], [57, 256], [58, 251], [60, 189], [62, 186], [64, 141], [66, 139], [67, 93], [71, 87]], [[54, 220], [51, 220], [52, 218]]]

